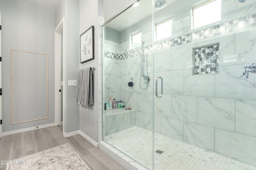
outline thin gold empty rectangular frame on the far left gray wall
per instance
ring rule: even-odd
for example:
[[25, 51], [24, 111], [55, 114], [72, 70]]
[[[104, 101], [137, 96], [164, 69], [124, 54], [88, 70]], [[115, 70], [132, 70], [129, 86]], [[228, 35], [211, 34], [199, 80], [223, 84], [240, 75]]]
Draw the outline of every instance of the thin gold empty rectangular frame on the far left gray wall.
[[11, 124], [48, 119], [48, 55], [11, 49]]

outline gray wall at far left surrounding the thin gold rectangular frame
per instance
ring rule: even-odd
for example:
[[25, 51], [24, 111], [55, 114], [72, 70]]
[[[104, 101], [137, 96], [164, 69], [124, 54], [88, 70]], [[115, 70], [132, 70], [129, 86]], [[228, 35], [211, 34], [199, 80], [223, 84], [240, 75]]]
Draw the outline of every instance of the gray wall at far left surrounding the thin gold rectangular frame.
[[[0, 0], [0, 3], [2, 14], [2, 131], [14, 131], [54, 123], [54, 11], [27, 0]], [[11, 49], [49, 55], [48, 119], [10, 125]], [[18, 69], [25, 68], [20, 66]], [[33, 83], [33, 78], [28, 83]], [[17, 97], [13, 96], [13, 98]], [[38, 102], [41, 101], [38, 100]], [[29, 105], [28, 103], [28, 107]]]

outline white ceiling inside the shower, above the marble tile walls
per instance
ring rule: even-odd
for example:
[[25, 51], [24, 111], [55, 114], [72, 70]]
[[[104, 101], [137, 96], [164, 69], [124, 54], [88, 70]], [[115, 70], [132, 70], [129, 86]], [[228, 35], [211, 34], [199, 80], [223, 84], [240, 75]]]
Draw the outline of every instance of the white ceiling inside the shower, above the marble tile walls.
[[[178, 0], [166, 0], [167, 6], [170, 6], [177, 1]], [[128, 8], [125, 12], [116, 17], [114, 21], [109, 22], [107, 26], [117, 31], [123, 31], [124, 29], [152, 15], [152, 1], [140, 0], [138, 4], [139, 5], [136, 7], [131, 6]], [[155, 12], [157, 11], [158, 10], [155, 10]]]

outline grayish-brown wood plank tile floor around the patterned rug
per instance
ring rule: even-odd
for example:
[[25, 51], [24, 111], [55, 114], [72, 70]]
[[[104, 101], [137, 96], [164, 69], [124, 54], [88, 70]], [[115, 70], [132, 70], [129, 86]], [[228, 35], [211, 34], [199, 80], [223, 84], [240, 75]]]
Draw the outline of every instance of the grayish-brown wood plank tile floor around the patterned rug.
[[[0, 138], [0, 160], [13, 160], [65, 143], [70, 144], [91, 170], [125, 170], [81, 135], [65, 138], [62, 125], [3, 136]], [[5, 168], [5, 164], [0, 164], [0, 170]]]

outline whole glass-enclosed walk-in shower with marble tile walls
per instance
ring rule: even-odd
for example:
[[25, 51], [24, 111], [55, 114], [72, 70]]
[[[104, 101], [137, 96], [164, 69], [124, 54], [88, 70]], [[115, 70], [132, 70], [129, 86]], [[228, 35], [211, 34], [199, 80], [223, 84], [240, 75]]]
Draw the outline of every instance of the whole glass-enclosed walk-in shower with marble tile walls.
[[138, 0], [106, 21], [103, 101], [124, 107], [103, 106], [103, 140], [150, 170], [255, 170], [255, 9]]

